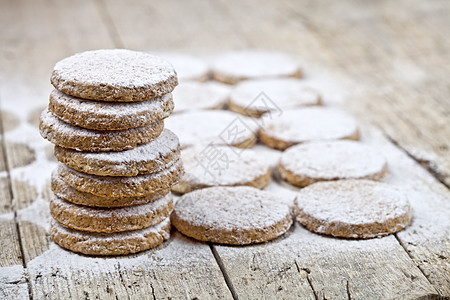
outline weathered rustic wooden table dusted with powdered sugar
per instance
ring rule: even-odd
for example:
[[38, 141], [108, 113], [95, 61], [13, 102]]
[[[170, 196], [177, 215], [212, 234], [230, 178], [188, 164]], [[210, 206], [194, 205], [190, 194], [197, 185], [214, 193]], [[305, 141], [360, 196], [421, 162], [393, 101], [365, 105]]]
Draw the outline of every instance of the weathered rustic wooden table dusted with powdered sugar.
[[[450, 297], [449, 16], [446, 0], [1, 0], [0, 298]], [[328, 78], [324, 89], [339, 86], [332, 104], [359, 118], [363, 142], [388, 158], [384, 180], [408, 193], [412, 225], [365, 241], [296, 224], [249, 247], [173, 232], [163, 246], [124, 258], [61, 250], [47, 234], [54, 162], [38, 112], [56, 61], [113, 47], [294, 55], [307, 76]]]

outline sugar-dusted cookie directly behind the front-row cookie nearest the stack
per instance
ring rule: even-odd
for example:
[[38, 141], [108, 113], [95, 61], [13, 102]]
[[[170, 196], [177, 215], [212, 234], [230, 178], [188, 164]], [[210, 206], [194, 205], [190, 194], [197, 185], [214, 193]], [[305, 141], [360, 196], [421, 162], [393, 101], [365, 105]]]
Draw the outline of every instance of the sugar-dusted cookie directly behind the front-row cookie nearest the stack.
[[181, 158], [185, 174], [172, 191], [184, 194], [211, 186], [267, 186], [271, 176], [267, 159], [251, 149], [237, 150], [220, 145], [184, 149]]

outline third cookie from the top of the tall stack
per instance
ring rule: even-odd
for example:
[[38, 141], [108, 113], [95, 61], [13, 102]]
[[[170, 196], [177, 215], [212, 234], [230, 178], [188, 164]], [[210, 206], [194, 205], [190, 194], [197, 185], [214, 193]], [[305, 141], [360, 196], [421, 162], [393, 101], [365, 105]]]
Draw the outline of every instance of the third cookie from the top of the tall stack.
[[125, 130], [100, 131], [75, 127], [64, 123], [48, 110], [41, 114], [39, 131], [55, 145], [89, 152], [122, 151], [157, 138], [164, 129], [164, 121]]

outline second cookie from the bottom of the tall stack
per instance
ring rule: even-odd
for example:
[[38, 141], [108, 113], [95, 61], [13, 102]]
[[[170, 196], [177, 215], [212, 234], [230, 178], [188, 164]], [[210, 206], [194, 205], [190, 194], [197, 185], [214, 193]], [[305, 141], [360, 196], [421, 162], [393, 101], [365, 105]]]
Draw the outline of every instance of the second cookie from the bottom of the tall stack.
[[172, 195], [147, 204], [118, 208], [76, 205], [56, 196], [50, 200], [50, 213], [61, 225], [89, 232], [121, 232], [147, 228], [167, 219], [173, 210]]

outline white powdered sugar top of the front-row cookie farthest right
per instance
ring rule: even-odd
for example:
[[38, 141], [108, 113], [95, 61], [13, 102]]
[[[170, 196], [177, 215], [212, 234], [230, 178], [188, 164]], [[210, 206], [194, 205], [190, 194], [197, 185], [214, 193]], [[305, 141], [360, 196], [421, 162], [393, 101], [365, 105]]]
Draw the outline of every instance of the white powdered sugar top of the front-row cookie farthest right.
[[302, 189], [297, 203], [304, 214], [327, 223], [384, 223], [410, 213], [406, 195], [369, 180], [319, 182]]

